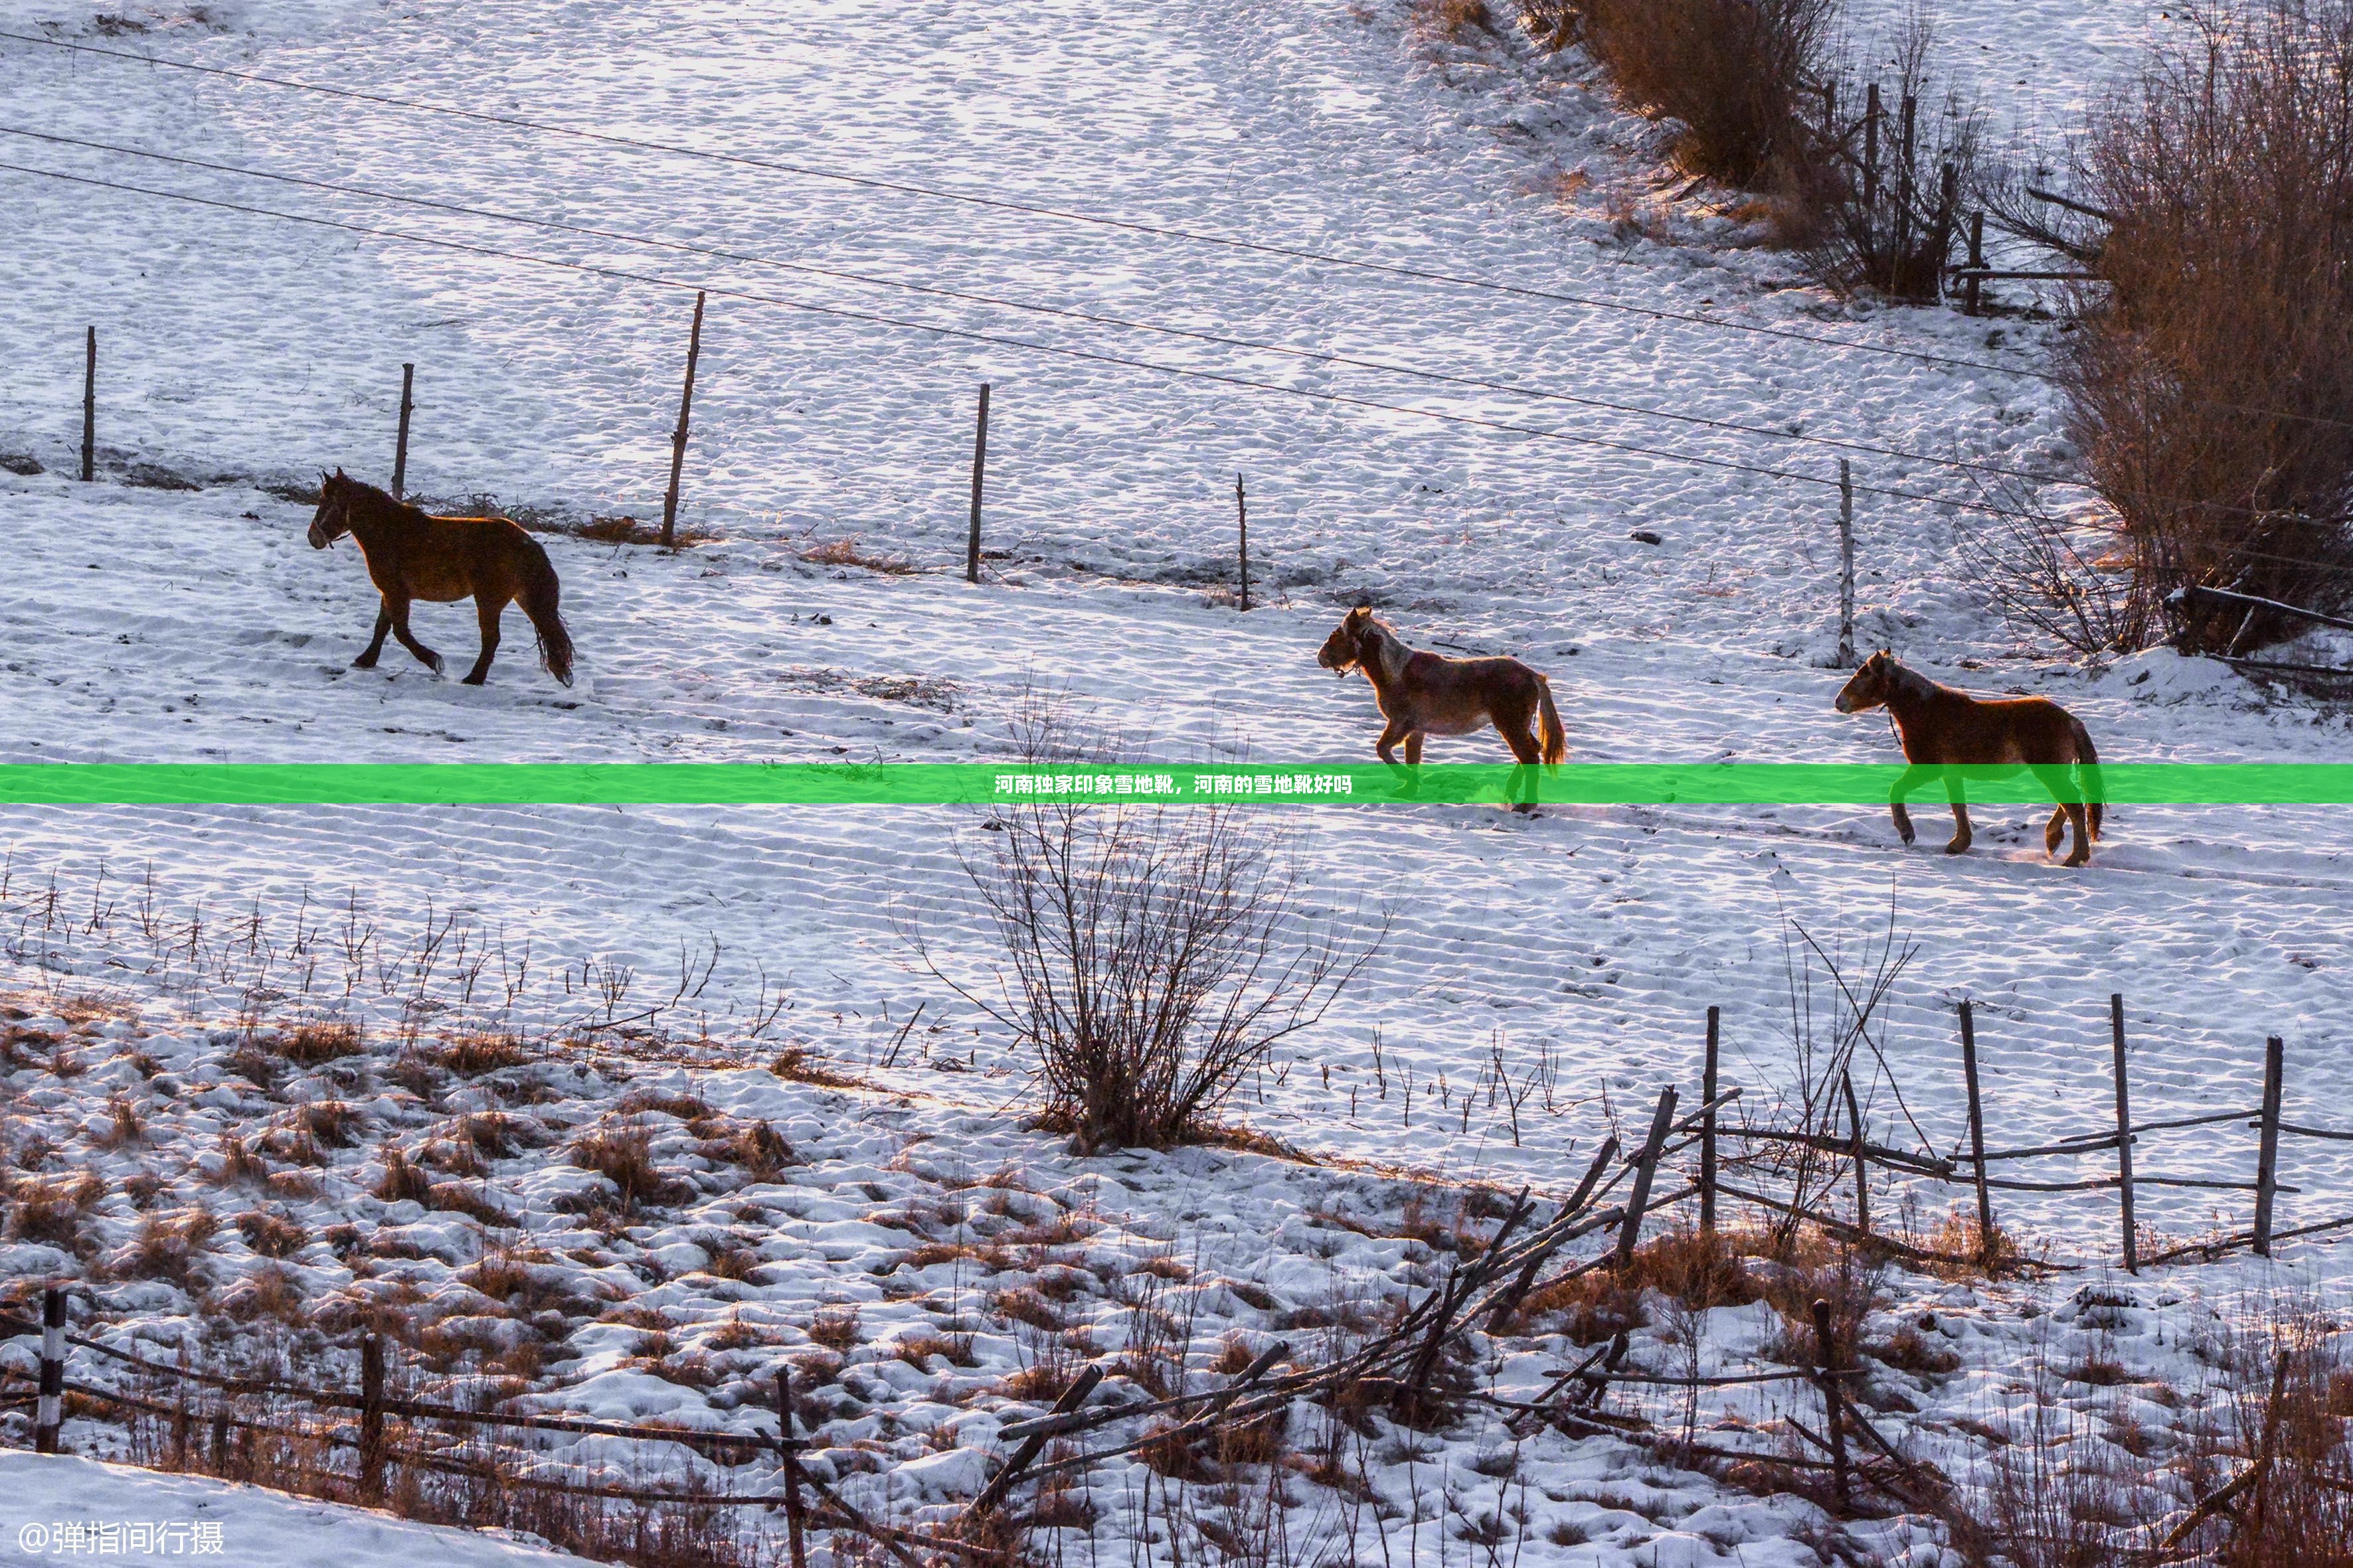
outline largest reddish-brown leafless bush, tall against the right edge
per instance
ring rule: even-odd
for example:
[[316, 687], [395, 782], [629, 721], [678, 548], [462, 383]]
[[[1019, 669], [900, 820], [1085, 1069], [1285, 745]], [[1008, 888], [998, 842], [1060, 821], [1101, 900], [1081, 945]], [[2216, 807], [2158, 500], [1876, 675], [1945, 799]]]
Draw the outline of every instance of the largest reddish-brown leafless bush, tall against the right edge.
[[[2353, 0], [2191, 12], [2089, 120], [2111, 216], [2064, 364], [2071, 428], [2151, 595], [2344, 602], [2353, 545]], [[2191, 609], [2184, 646], [2287, 623]]]

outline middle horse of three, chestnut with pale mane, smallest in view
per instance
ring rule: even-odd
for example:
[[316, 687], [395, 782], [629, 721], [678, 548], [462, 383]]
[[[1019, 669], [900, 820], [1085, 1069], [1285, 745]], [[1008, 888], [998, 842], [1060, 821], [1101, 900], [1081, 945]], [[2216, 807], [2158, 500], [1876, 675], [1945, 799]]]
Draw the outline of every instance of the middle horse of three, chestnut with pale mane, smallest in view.
[[[1421, 654], [1405, 646], [1386, 621], [1377, 621], [1372, 607], [1358, 604], [1325, 637], [1315, 663], [1341, 677], [1362, 670], [1372, 682], [1372, 696], [1388, 719], [1372, 750], [1391, 766], [1398, 766], [1398, 741], [1405, 741], [1407, 766], [1417, 766], [1424, 736], [1468, 736], [1489, 722], [1522, 769], [1537, 762], [1555, 766], [1569, 755], [1569, 736], [1553, 708], [1553, 684], [1518, 658]], [[1513, 780], [1520, 780], [1518, 771]], [[1534, 809], [1525, 799], [1513, 806]]]

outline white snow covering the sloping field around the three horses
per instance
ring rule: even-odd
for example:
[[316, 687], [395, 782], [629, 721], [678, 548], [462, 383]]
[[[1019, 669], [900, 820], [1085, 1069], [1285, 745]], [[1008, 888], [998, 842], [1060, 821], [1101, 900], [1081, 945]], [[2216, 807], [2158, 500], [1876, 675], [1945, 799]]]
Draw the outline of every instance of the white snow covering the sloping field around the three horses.
[[[1882, 762], [1894, 743], [1878, 717], [1831, 712], [1840, 456], [1864, 487], [1866, 642], [1955, 684], [2057, 696], [2085, 717], [2104, 759], [2344, 755], [2344, 715], [2217, 665], [2153, 651], [2085, 675], [2012, 646], [1958, 585], [1953, 515], [1927, 498], [1974, 496], [1965, 473], [1937, 461], [1946, 456], [2066, 468], [2054, 390], [2031, 374], [2047, 329], [1828, 301], [1788, 256], [1755, 249], [1708, 193], [1682, 195], [1659, 167], [1659, 132], [1609, 103], [1577, 56], [1478, 33], [1445, 42], [1388, 2], [1052, 0], [986, 19], [932, 2], [678, 9], [212, 5], [127, 7], [101, 24], [92, 7], [0, 0], [9, 33], [772, 165], [416, 118], [0, 40], [0, 125], [14, 129], [642, 240], [0, 136], [7, 165], [478, 247], [0, 172], [0, 456], [45, 468], [0, 473], [0, 759], [967, 762], [1007, 755], [1007, 719], [1031, 684], [1068, 686], [1106, 719], [1151, 733], [1162, 757], [1358, 759], [1379, 731], [1372, 693], [1318, 670], [1313, 651], [1348, 604], [1372, 599], [1417, 646], [1508, 651], [1546, 670], [1574, 759]], [[1859, 5], [1849, 26], [1868, 38], [1897, 9]], [[2151, 5], [2045, 0], [1965, 7], [1944, 40], [1955, 75], [1998, 115], [2052, 125], [2165, 24]], [[515, 618], [487, 689], [435, 679], [398, 649], [374, 672], [348, 670], [374, 607], [358, 555], [313, 552], [308, 508], [261, 487], [336, 463], [386, 480], [400, 364], [416, 362], [412, 491], [494, 494], [569, 517], [659, 515], [692, 287], [713, 299], [685, 520], [715, 538], [661, 555], [546, 536], [581, 649], [572, 691], [534, 668]], [[85, 322], [101, 343], [108, 482], [96, 487], [64, 477]], [[993, 386], [986, 527], [1002, 555], [969, 588], [960, 552], [981, 381]], [[141, 477], [134, 463], [200, 489], [127, 484]], [[1233, 571], [1235, 473], [1249, 482], [1259, 592], [1273, 599], [1249, 616], [1214, 592]], [[2078, 496], [2049, 484], [2045, 501]], [[913, 571], [802, 559], [842, 541]], [[424, 607], [416, 625], [452, 658], [471, 656], [471, 609]], [[1433, 759], [1489, 752], [1492, 738], [1457, 741], [1438, 743]], [[1565, 1190], [1612, 1117], [1647, 1105], [1664, 1081], [1697, 1091], [1711, 1004], [1725, 1011], [1727, 1077], [1760, 1093], [1779, 1086], [1791, 1072], [1793, 922], [1857, 954], [1892, 907], [1894, 929], [1920, 945], [1885, 1013], [1887, 1046], [1941, 1150], [1962, 1138], [1962, 997], [1977, 1001], [1998, 1143], [2089, 1131], [2111, 1114], [2111, 992], [2127, 999], [2141, 1117], [2252, 1105], [2264, 1037], [2282, 1034], [2289, 1117], [2344, 1121], [2329, 1086], [2353, 1067], [2341, 1023], [2353, 1004], [2346, 818], [2120, 811], [2092, 867], [2066, 872], [2040, 853], [2040, 816], [1979, 809], [1977, 851], [1946, 858], [1934, 853], [1937, 811], [1922, 813], [1922, 844], [1908, 853], [1875, 811], [1285, 813], [1315, 910], [1393, 919], [1367, 983], [1238, 1107], [1249, 1126], [1346, 1161], [1292, 1168], [1226, 1154], [1071, 1161], [1019, 1131], [1005, 1107], [1021, 1095], [1021, 1058], [920, 971], [906, 940], [908, 929], [927, 931], [965, 976], [988, 961], [988, 936], [960, 898], [958, 844], [981, 839], [967, 813], [0, 809], [0, 912], [14, 933], [5, 980], [26, 1027], [87, 1027], [73, 1048], [94, 1067], [71, 1084], [21, 1067], [7, 1114], [52, 1145], [87, 1140], [78, 1128], [104, 1126], [111, 1095], [153, 1093], [125, 1060], [108, 1060], [136, 1044], [195, 1093], [155, 1100], [151, 1147], [118, 1150], [106, 1168], [118, 1182], [141, 1164], [158, 1168], [169, 1192], [195, 1199], [214, 1178], [202, 1159], [219, 1159], [221, 1131], [289, 1114], [306, 1093], [304, 1074], [264, 1098], [221, 1084], [226, 1046], [207, 1030], [235, 1020], [254, 976], [226, 959], [209, 976], [176, 971], [158, 943], [132, 936], [127, 910], [148, 877], [169, 922], [214, 910], [224, 952], [226, 922], [247, 910], [280, 933], [306, 907], [313, 919], [355, 910], [351, 919], [379, 931], [379, 969], [409, 952], [428, 919], [454, 914], [475, 943], [527, 938], [534, 980], [520, 1013], [496, 1023], [534, 1030], [595, 1020], [591, 971], [633, 973], [642, 1006], [671, 992], [680, 954], [708, 954], [708, 985], [671, 1023], [689, 1027], [694, 1013], [694, 1027], [734, 1037], [744, 1063], [788, 1039], [904, 1098], [781, 1084], [729, 1060], [638, 1079], [595, 1072], [565, 1084], [569, 1098], [546, 1112], [536, 1150], [624, 1114], [621, 1100], [649, 1088], [701, 1093], [793, 1143], [807, 1164], [784, 1180], [713, 1168], [699, 1199], [711, 1213], [680, 1213], [602, 1262], [565, 1265], [602, 1274], [609, 1302], [673, 1314], [689, 1345], [729, 1309], [758, 1309], [765, 1338], [729, 1352], [741, 1356], [729, 1378], [746, 1382], [762, 1356], [805, 1349], [807, 1312], [826, 1302], [861, 1302], [880, 1345], [859, 1354], [906, 1371], [892, 1338], [972, 1305], [946, 1276], [911, 1295], [878, 1291], [878, 1262], [887, 1269], [906, 1237], [875, 1227], [873, 1208], [934, 1201], [1000, 1168], [1021, 1171], [1040, 1204], [1085, 1208], [1106, 1232], [1087, 1262], [1108, 1258], [1113, 1272], [1134, 1248], [1174, 1246], [1191, 1279], [1257, 1281], [1282, 1298], [1275, 1314], [1318, 1293], [1388, 1298], [1400, 1269], [1433, 1267], [1428, 1248], [1412, 1253], [1388, 1232], [1334, 1241], [1308, 1215], [1393, 1211], [1402, 1187], [1379, 1173], [1398, 1171]], [[125, 912], [104, 929], [45, 919], [35, 910], [52, 884], [68, 910], [120, 900]], [[584, 990], [567, 994], [558, 976], [574, 969]], [[315, 983], [376, 1030], [398, 1027], [409, 994], [433, 992], [452, 1018], [492, 1013], [449, 1001], [447, 976], [409, 980]], [[120, 1009], [111, 1023], [75, 1018], [68, 1004], [87, 992], [136, 1009], [136, 1027]], [[774, 1013], [779, 999], [788, 1006]], [[628, 1006], [607, 1016], [616, 1011]], [[760, 1039], [744, 1044], [755, 1025]], [[1489, 1093], [1501, 1081], [1541, 1093], [1506, 1114]], [[1882, 1091], [1875, 1119], [1892, 1114]], [[369, 1135], [329, 1159], [318, 1194], [292, 1204], [318, 1234], [355, 1206], [372, 1225], [433, 1232], [414, 1237], [416, 1255], [391, 1274], [438, 1312], [468, 1300], [459, 1274], [485, 1241], [449, 1213], [384, 1211], [365, 1197], [376, 1175], [367, 1161], [381, 1138], [442, 1138], [445, 1114], [492, 1105], [464, 1093], [452, 1105], [379, 1093]], [[675, 1138], [687, 1150], [701, 1133], [680, 1121]], [[2252, 1143], [2240, 1126], [2198, 1128], [2141, 1159], [2245, 1180]], [[2353, 1157], [2313, 1152], [2332, 1147], [2348, 1145], [2294, 1147], [2282, 1180], [2301, 1192], [2282, 1199], [2282, 1225], [2353, 1206]], [[560, 1253], [579, 1241], [567, 1237], [579, 1220], [553, 1199], [579, 1173], [536, 1150], [496, 1157], [478, 1180], [529, 1218], [532, 1248]], [[1184, 1234], [1158, 1222], [1172, 1204], [1188, 1213]], [[2113, 1253], [2106, 1194], [2005, 1194], [2002, 1215], [2061, 1260]], [[2195, 1190], [2146, 1192], [2141, 1215], [2177, 1239], [2245, 1225], [2242, 1194]], [[127, 1246], [136, 1222], [125, 1199], [94, 1218], [108, 1248]], [[718, 1286], [704, 1272], [713, 1232], [760, 1253], [753, 1281]], [[66, 1262], [40, 1246], [0, 1255], [26, 1281]], [[224, 1255], [252, 1262], [233, 1239]], [[367, 1295], [367, 1272], [341, 1253], [306, 1258], [318, 1302]], [[2202, 1321], [2209, 1300], [2228, 1314], [2240, 1288], [2332, 1293], [2341, 1276], [2339, 1248], [2315, 1244], [2278, 1269], [2125, 1286], [2148, 1309], [2125, 1338], [2153, 1338], [2139, 1361], [2118, 1354], [2172, 1378], [2184, 1324]], [[2080, 1316], [2066, 1305], [2078, 1284], [2054, 1288], [2042, 1305], [2061, 1316], [2042, 1324]], [[1939, 1309], [1962, 1324], [1955, 1333], [1984, 1338], [1958, 1387], [1920, 1394], [1922, 1429], [1986, 1420], [2033, 1333], [2049, 1333], [2012, 1312], [2033, 1293], [1974, 1302], [1934, 1281], [1904, 1291], [1920, 1300], [1892, 1302], [1892, 1314]], [[1198, 1295], [1212, 1347], [1221, 1333], [1275, 1326], [1240, 1298]], [[113, 1309], [169, 1338], [186, 1305], [160, 1291]], [[1134, 1302], [1101, 1309], [1096, 1328], [1115, 1342], [1113, 1319]], [[1713, 1342], [1737, 1359], [1758, 1333], [1727, 1321]], [[2104, 1345], [2118, 1338], [2113, 1324], [2099, 1333]], [[605, 1338], [576, 1335], [574, 1359], [551, 1363], [551, 1408], [751, 1418], [647, 1373], [619, 1331]], [[969, 1455], [995, 1429], [972, 1401], [1028, 1354], [984, 1333], [974, 1368], [899, 1382], [873, 1373], [845, 1389], [828, 1441], [882, 1441], [856, 1422], [875, 1422], [885, 1403], [908, 1453], [927, 1450], [946, 1422], [955, 1441], [934, 1462], [946, 1497], [972, 1481]], [[1562, 1354], [1499, 1345], [1497, 1375], [1534, 1387], [1534, 1368]], [[918, 1418], [915, 1392], [934, 1382], [951, 1387]], [[1475, 1458], [1480, 1441], [1466, 1439], [1457, 1458]], [[1626, 1465], [1591, 1443], [1544, 1443], [1544, 1465], [1560, 1467], [1546, 1495], [1579, 1497], [1572, 1512], [1595, 1507], [1579, 1490], [1595, 1479], [1581, 1465]], [[1377, 1469], [1393, 1495], [1419, 1495], [1409, 1462]], [[1118, 1472], [1104, 1486], [1122, 1486]], [[1814, 1561], [1791, 1535], [1802, 1521], [1779, 1505], [1737, 1493], [1701, 1502], [1697, 1490], [1692, 1502], [1737, 1519], [1678, 1526], [1689, 1542], [1746, 1542], [1744, 1563]], [[1600, 1544], [1529, 1549], [1633, 1561], [1628, 1537], [1647, 1528], [1628, 1516], [1595, 1535]], [[1894, 1561], [1899, 1547], [1882, 1544]]]

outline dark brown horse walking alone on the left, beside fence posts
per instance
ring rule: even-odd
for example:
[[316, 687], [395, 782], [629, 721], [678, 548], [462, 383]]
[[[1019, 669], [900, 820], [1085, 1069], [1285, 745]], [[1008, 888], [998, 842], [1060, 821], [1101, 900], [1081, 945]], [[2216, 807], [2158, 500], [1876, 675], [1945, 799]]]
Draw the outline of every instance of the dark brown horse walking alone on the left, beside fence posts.
[[367, 576], [384, 604], [376, 609], [376, 635], [367, 651], [351, 661], [353, 670], [374, 670], [384, 651], [384, 632], [400, 639], [435, 675], [442, 658], [409, 632], [409, 604], [426, 599], [449, 604], [473, 597], [482, 621], [482, 654], [466, 672], [468, 686], [489, 675], [489, 656], [499, 651], [499, 616], [506, 602], [522, 604], [539, 632], [539, 658], [548, 675], [572, 684], [572, 632], [555, 602], [560, 585], [555, 567], [539, 541], [508, 517], [428, 517], [414, 505], [393, 501], [374, 484], [360, 484], [336, 468], [318, 480], [318, 515], [311, 517], [311, 548], [325, 550], [344, 534], [360, 541]]

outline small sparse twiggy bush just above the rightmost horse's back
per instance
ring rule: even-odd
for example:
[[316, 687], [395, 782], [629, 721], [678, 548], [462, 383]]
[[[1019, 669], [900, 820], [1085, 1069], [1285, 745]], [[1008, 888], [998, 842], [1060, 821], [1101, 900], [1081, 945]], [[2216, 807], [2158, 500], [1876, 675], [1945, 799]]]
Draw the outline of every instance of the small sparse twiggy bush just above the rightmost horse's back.
[[1981, 512], [1953, 517], [1962, 578], [2019, 637], [2087, 661], [2146, 646], [2160, 623], [2151, 583], [2120, 567], [2125, 541], [2106, 524], [2054, 517], [2019, 482], [1979, 491]]

